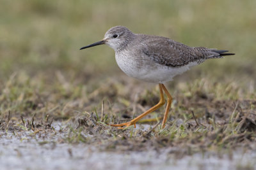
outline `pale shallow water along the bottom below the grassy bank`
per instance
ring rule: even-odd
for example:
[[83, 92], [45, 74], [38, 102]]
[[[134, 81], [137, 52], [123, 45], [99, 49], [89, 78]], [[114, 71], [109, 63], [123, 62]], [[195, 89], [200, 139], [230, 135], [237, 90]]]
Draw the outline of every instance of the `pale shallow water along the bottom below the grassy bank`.
[[[60, 129], [60, 123], [53, 125]], [[214, 154], [196, 153], [177, 159], [172, 150], [145, 150], [144, 152], [106, 152], [97, 146], [79, 143], [61, 143], [65, 133], [30, 137], [33, 131], [22, 136], [3, 132], [0, 139], [0, 169], [236, 169], [256, 168], [255, 152], [234, 152], [219, 157]], [[44, 143], [47, 141], [47, 143]]]

